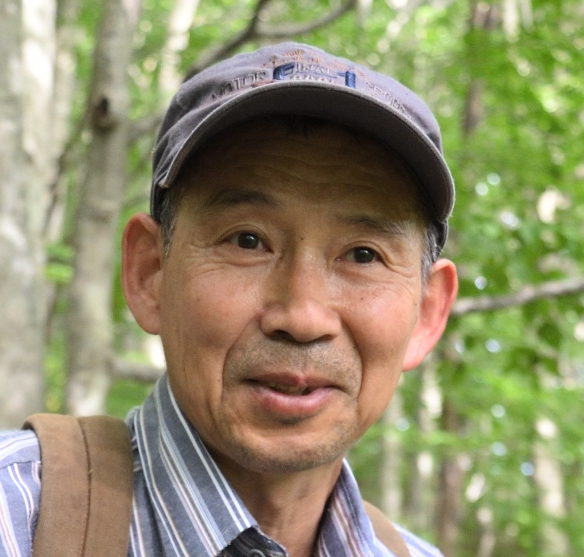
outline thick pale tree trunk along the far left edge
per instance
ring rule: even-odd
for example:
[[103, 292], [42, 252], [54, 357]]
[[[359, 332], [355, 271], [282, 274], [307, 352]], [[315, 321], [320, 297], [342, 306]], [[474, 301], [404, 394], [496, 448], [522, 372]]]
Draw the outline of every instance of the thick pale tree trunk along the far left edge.
[[0, 0], [0, 428], [43, 409], [55, 3]]

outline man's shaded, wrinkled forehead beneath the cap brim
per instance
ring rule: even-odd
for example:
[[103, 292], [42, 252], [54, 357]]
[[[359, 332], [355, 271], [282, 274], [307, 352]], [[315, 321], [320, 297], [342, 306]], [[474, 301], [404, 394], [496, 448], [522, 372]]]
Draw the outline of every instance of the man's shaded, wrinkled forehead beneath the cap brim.
[[418, 187], [401, 159], [361, 132], [312, 118], [265, 117], [228, 128], [185, 164], [176, 186], [199, 201], [242, 188], [312, 204], [370, 202], [388, 217], [399, 208], [400, 219], [423, 220]]

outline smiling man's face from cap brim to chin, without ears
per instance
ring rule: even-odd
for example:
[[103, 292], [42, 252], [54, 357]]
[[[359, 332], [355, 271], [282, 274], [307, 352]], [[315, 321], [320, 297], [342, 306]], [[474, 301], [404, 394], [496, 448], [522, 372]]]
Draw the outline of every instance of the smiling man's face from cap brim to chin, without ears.
[[182, 179], [159, 283], [180, 408], [220, 465], [338, 464], [384, 411], [419, 321], [408, 174], [338, 127], [251, 122]]

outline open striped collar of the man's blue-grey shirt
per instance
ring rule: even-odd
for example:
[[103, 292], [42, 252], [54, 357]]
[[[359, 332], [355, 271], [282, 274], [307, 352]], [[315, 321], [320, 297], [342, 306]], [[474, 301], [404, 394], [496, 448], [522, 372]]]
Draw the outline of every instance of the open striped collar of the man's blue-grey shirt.
[[[215, 557], [228, 546], [231, 555], [244, 556], [252, 548], [272, 557], [284, 555], [279, 544], [261, 533], [180, 411], [166, 376], [130, 420], [166, 555]], [[390, 555], [374, 541], [346, 462], [325, 509], [315, 553]]]

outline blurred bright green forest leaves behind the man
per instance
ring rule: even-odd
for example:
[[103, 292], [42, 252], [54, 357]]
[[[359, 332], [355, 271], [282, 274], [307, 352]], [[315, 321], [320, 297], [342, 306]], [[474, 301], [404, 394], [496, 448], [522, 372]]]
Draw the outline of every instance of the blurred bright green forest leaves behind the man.
[[[260, 20], [272, 27], [310, 22], [338, 3], [274, 0]], [[255, 5], [251, 0], [201, 0], [179, 72], [187, 73], [241, 32]], [[509, 6], [517, 9], [515, 23], [508, 14], [503, 17]], [[171, 0], [144, 0], [130, 68], [136, 121], [157, 113], [168, 100], [159, 79], [172, 7]], [[72, 130], [84, 115], [99, 9], [95, 0], [82, 2]], [[575, 0], [374, 0], [361, 17], [352, 11], [329, 26], [292, 37], [391, 73], [435, 111], [457, 182], [446, 255], [457, 262], [461, 297], [495, 296], [584, 274], [582, 10]], [[264, 41], [249, 41], [242, 49]], [[75, 164], [61, 177], [68, 187], [69, 214], [82, 174], [86, 140], [81, 139], [69, 155]], [[122, 225], [134, 211], [147, 210], [152, 142], [146, 135], [131, 146]], [[71, 275], [69, 233], [65, 223], [62, 242], [48, 248], [47, 278], [55, 288], [66, 285]], [[116, 349], [132, 357], [142, 337], [125, 309], [119, 269], [114, 281]], [[59, 300], [47, 356], [51, 409], [60, 407], [64, 384], [60, 327], [66, 308]], [[561, 467], [566, 513], [558, 527], [568, 536], [572, 555], [584, 553], [579, 524], [584, 514], [583, 341], [584, 295], [453, 318], [434, 360], [439, 392], [456, 408], [456, 430], [441, 429], [437, 422], [430, 431], [420, 427], [419, 376], [404, 377], [404, 421], [390, 428], [404, 449], [402, 485], [407, 492], [412, 459], [420, 451], [430, 452], [435, 469], [445, 455], [457, 455], [465, 499], [458, 556], [477, 555], [484, 509], [496, 535], [493, 556], [543, 555], [537, 540], [550, 519], [538, 505], [536, 446], [547, 447]], [[123, 415], [144, 394], [145, 387], [114, 384], [109, 411]], [[556, 435], [541, 436], [537, 423], [543, 418], [555, 425]], [[387, 428], [381, 425], [371, 429], [352, 457], [373, 495], [376, 475], [371, 470], [380, 465], [384, 433]], [[408, 523], [407, 515], [403, 519]]]

